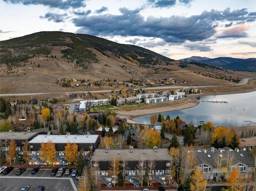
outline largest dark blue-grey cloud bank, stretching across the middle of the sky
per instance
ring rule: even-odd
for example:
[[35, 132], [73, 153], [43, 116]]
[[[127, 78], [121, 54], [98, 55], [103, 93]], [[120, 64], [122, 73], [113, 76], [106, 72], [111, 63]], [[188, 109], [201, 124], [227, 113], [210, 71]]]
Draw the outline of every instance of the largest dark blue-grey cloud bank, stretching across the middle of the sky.
[[120, 9], [121, 15], [79, 17], [73, 20], [79, 33], [90, 35], [121, 35], [158, 37], [166, 42], [201, 41], [215, 34], [215, 26], [202, 16], [148, 17], [144, 20], [140, 10]]

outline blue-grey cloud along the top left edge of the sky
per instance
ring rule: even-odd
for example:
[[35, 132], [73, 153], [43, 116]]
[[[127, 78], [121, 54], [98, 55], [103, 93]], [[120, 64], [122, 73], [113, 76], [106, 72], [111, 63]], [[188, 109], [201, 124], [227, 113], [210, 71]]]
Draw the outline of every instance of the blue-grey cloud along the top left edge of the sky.
[[44, 5], [50, 8], [68, 9], [81, 8], [86, 4], [82, 0], [3, 0], [6, 3], [23, 4], [23, 5]]

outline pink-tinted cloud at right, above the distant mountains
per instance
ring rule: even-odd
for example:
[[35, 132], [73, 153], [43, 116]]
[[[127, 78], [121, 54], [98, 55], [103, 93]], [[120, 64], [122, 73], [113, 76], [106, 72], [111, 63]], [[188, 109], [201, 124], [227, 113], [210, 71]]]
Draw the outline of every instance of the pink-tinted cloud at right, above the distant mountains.
[[246, 30], [248, 29], [248, 27], [249, 27], [248, 25], [244, 24], [244, 25], [236, 26], [236, 27], [232, 27], [232, 28], [217, 29], [218, 34], [216, 34], [216, 36], [218, 38], [247, 37]]

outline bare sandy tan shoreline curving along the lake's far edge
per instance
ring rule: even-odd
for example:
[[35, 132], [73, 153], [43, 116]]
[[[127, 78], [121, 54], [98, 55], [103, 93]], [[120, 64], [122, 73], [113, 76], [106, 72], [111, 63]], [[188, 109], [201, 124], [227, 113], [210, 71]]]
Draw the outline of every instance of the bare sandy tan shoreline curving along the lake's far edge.
[[169, 111], [176, 111], [176, 110], [182, 110], [187, 108], [192, 108], [194, 106], [197, 106], [200, 102], [197, 100], [200, 96], [207, 96], [207, 95], [226, 95], [226, 94], [239, 94], [239, 93], [248, 93], [255, 90], [241, 90], [241, 91], [235, 91], [235, 92], [218, 92], [218, 93], [202, 93], [202, 94], [194, 94], [194, 95], [188, 95], [188, 100], [181, 104], [176, 104], [173, 106], [166, 106], [166, 107], [160, 107], [160, 108], [152, 108], [152, 109], [138, 109], [138, 110], [130, 110], [130, 111], [118, 111], [117, 116], [120, 118], [126, 118], [128, 123], [131, 124], [138, 124], [138, 122], [133, 121], [133, 118], [144, 116], [144, 115], [150, 115], [150, 114], [159, 114], [162, 112], [169, 112]]

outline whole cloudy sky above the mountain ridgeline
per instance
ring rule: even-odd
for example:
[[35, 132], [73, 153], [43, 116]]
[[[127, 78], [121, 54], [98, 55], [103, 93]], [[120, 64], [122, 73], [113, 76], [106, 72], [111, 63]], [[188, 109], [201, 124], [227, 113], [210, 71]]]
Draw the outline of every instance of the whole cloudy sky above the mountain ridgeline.
[[256, 57], [255, 0], [0, 0], [0, 40], [40, 31], [103, 37], [172, 59]]

